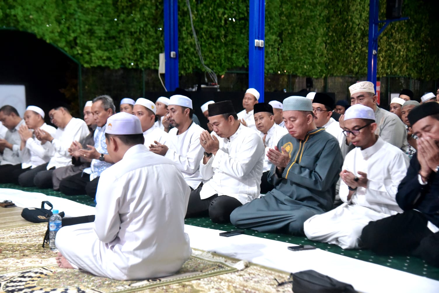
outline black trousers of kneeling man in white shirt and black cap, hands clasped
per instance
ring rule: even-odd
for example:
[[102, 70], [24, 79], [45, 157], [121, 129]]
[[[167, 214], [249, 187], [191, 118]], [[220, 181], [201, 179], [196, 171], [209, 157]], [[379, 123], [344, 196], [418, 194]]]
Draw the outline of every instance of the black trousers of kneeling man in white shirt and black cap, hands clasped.
[[214, 223], [230, 223], [230, 214], [242, 205], [241, 202], [234, 197], [218, 194], [202, 200], [201, 189], [202, 187], [198, 187], [191, 191], [186, 218], [209, 216]]

